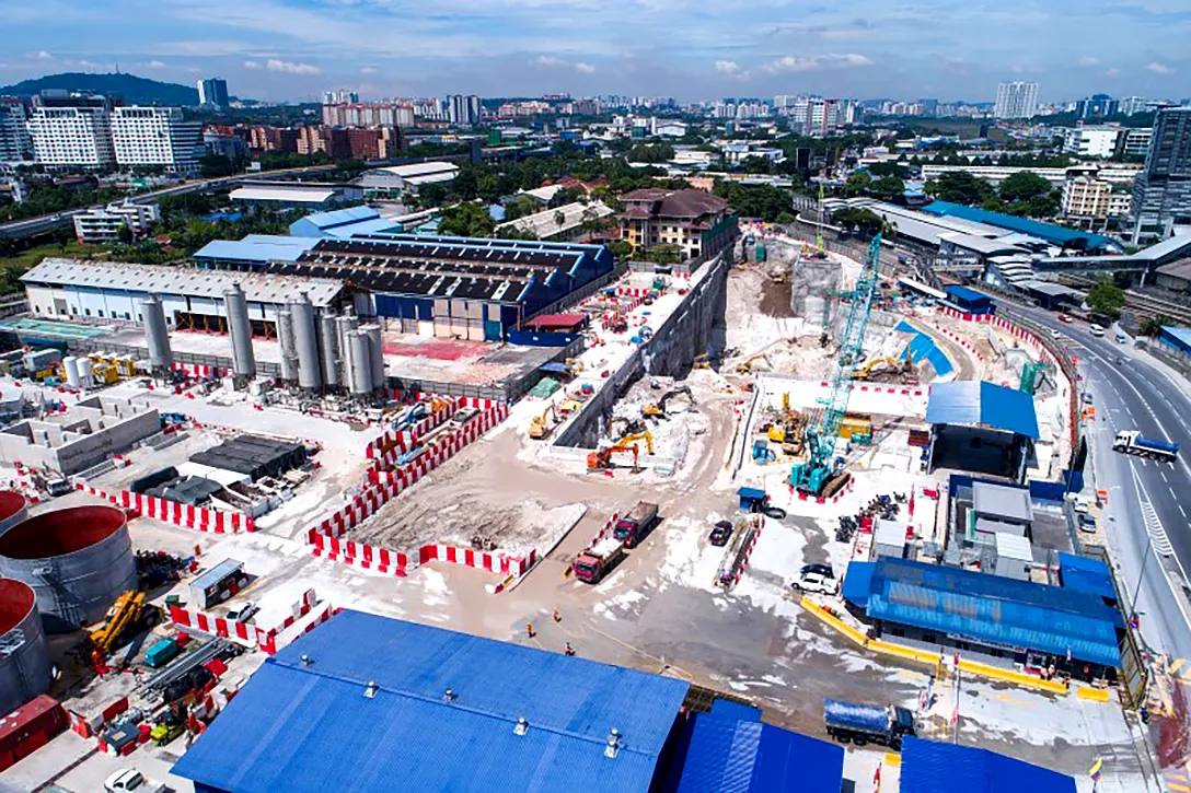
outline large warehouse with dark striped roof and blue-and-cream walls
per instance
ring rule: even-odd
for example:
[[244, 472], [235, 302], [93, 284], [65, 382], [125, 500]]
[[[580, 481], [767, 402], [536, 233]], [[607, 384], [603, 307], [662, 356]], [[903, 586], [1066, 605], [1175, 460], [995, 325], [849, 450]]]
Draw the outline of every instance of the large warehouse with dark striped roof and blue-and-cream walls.
[[362, 313], [394, 331], [503, 341], [613, 269], [603, 245], [384, 235], [323, 239], [274, 275], [336, 279], [372, 293]]

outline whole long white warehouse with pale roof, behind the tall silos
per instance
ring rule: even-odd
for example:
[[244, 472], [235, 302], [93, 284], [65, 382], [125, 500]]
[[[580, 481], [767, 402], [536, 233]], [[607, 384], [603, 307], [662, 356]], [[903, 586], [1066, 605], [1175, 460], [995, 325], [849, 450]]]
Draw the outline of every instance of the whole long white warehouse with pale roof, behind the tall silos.
[[258, 336], [275, 335], [278, 311], [301, 292], [319, 308], [351, 302], [338, 280], [233, 274], [177, 266], [48, 258], [20, 280], [30, 311], [37, 317], [142, 323], [141, 304], [156, 294], [170, 329], [219, 332], [227, 325], [224, 292], [238, 283], [248, 300], [252, 331]]

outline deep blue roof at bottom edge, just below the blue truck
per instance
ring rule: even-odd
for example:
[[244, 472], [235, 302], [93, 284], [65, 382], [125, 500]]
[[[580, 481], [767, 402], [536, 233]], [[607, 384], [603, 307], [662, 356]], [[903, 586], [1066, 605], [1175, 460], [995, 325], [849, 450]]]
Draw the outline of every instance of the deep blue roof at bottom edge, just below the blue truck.
[[1065, 774], [987, 749], [902, 739], [902, 793], [1075, 793]]

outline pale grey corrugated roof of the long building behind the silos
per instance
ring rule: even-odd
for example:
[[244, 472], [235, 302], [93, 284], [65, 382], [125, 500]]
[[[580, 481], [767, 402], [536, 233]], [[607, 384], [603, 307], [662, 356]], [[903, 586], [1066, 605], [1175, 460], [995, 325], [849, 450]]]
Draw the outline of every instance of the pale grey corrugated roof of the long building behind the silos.
[[314, 306], [330, 305], [343, 291], [343, 283], [331, 279], [226, 273], [164, 264], [85, 262], [75, 258], [46, 258], [20, 279], [26, 283], [46, 283], [67, 288], [85, 287], [133, 294], [173, 294], [220, 300], [226, 289], [238, 283], [249, 302], [283, 304], [305, 292]]

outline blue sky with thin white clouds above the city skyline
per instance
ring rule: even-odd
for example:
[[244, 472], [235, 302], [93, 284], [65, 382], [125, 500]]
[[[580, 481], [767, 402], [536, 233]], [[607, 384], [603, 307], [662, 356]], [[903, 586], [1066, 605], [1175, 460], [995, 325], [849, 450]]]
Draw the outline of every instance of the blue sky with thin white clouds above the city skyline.
[[1189, 0], [0, 0], [0, 85], [67, 70], [305, 100], [569, 92], [1191, 95]]

